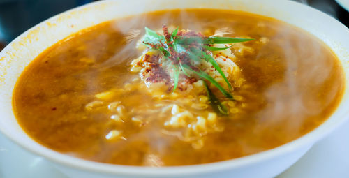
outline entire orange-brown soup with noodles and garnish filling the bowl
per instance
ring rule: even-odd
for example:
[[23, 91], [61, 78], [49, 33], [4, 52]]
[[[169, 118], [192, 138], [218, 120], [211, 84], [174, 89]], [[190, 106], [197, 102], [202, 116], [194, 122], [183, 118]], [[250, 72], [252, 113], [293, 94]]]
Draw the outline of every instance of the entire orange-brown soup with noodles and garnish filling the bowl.
[[334, 53], [301, 29], [230, 10], [165, 10], [45, 50], [17, 81], [13, 108], [31, 138], [64, 154], [193, 165], [299, 138], [332, 114], [343, 86]]

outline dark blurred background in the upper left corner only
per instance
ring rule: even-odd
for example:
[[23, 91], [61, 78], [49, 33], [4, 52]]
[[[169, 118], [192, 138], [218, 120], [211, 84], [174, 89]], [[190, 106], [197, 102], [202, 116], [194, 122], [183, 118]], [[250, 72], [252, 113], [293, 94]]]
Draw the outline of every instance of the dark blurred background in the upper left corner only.
[[34, 25], [95, 0], [0, 0], [0, 51]]

